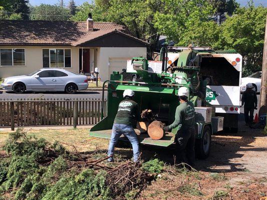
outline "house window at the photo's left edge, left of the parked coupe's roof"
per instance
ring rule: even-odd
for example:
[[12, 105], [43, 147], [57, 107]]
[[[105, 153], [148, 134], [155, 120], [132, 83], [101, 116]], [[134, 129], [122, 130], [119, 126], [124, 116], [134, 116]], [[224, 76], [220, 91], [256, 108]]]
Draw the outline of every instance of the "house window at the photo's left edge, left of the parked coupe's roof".
[[1, 48], [0, 49], [0, 65], [25, 65], [25, 49], [24, 48]]

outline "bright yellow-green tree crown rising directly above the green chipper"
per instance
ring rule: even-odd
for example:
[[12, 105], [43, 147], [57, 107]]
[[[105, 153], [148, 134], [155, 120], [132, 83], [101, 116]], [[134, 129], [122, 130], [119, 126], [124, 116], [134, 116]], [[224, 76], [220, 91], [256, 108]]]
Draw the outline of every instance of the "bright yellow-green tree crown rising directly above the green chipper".
[[203, 45], [206, 41], [217, 39], [203, 30], [208, 27], [210, 33], [216, 29], [216, 25], [209, 20], [214, 8], [206, 0], [166, 0], [164, 9], [163, 13], [156, 12], [155, 26], [178, 45]]

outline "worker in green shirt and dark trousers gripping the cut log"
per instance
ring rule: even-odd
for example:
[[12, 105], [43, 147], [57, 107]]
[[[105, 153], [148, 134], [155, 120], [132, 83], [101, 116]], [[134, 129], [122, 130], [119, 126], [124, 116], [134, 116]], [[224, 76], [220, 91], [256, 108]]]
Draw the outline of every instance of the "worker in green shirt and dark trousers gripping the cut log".
[[171, 131], [172, 128], [179, 126], [175, 135], [176, 161], [193, 166], [195, 162], [194, 104], [188, 101], [189, 89], [187, 87], [180, 87], [178, 96], [180, 104], [175, 111], [175, 120], [172, 124], [165, 126], [164, 130]]

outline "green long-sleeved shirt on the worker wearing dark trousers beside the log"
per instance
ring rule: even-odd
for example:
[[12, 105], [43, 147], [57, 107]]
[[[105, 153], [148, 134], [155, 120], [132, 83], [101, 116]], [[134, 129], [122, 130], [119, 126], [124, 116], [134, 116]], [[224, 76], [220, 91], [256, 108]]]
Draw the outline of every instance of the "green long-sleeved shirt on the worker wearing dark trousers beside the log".
[[176, 128], [181, 125], [180, 129], [194, 127], [195, 108], [192, 102], [183, 102], [177, 106], [175, 111], [175, 120], [169, 125], [169, 128]]

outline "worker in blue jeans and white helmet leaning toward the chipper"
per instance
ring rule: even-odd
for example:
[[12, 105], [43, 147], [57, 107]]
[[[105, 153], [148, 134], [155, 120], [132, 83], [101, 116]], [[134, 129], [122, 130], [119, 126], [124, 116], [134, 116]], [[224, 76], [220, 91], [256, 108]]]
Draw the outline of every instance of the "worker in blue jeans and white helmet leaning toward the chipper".
[[114, 147], [121, 134], [126, 136], [131, 142], [133, 147], [133, 159], [135, 162], [138, 160], [140, 154], [137, 135], [133, 128], [133, 123], [135, 120], [142, 121], [140, 116], [140, 108], [139, 105], [133, 100], [133, 90], [125, 89], [123, 92], [123, 97], [125, 99], [122, 100], [119, 104], [118, 112], [115, 116], [112, 127], [112, 134], [108, 149], [108, 155], [112, 155], [112, 157], [108, 159], [108, 161], [110, 162], [114, 160]]

